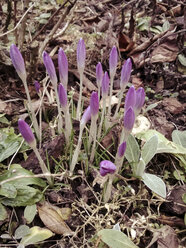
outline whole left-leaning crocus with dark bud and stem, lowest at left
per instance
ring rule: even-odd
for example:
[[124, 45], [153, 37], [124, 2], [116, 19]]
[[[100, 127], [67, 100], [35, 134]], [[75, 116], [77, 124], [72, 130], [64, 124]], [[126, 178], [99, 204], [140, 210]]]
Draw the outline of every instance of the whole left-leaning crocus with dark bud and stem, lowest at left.
[[45, 174], [45, 177], [48, 180], [49, 185], [52, 186], [53, 182], [52, 182], [50, 172], [48, 171], [43, 159], [41, 158], [41, 156], [39, 154], [39, 151], [38, 151], [37, 146], [36, 146], [36, 140], [35, 140], [34, 134], [32, 133], [30, 126], [24, 120], [19, 119], [18, 128], [19, 128], [19, 131], [20, 131], [21, 135], [23, 136], [24, 140], [33, 149], [36, 157], [39, 160], [39, 164], [40, 164], [40, 167], [41, 167], [43, 174]]

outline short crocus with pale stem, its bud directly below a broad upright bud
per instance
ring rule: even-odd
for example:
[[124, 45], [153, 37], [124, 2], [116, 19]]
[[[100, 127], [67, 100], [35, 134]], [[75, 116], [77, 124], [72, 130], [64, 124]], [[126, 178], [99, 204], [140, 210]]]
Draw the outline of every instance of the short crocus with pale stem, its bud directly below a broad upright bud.
[[59, 101], [61, 103], [61, 107], [63, 110], [63, 113], [65, 115], [65, 138], [67, 144], [69, 143], [71, 131], [72, 131], [72, 123], [71, 118], [69, 114], [69, 107], [68, 107], [68, 101], [67, 101], [67, 92], [65, 87], [62, 84], [59, 84], [58, 86], [58, 94], [59, 94]]

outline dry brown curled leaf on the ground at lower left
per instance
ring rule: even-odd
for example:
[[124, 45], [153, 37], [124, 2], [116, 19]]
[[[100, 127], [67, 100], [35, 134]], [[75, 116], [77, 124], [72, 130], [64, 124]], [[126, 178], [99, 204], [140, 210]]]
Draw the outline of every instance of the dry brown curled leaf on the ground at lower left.
[[44, 225], [52, 232], [62, 234], [64, 236], [73, 235], [74, 232], [64, 222], [67, 215], [63, 216], [62, 209], [54, 207], [48, 202], [38, 206], [39, 217]]

